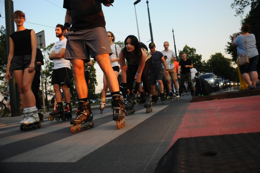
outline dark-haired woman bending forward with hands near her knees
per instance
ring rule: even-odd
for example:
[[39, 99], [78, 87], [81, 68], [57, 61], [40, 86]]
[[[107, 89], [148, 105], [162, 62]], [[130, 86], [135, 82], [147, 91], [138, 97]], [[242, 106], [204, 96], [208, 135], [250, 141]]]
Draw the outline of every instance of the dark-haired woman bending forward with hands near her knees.
[[[149, 81], [149, 70], [152, 65], [151, 54], [140, 46], [138, 39], [134, 35], [128, 35], [125, 39], [125, 47], [119, 53], [120, 66], [122, 69], [122, 79], [124, 90], [128, 95], [128, 101], [125, 105], [126, 110], [131, 110], [134, 107], [133, 93], [137, 93], [137, 90], [142, 79], [143, 89], [145, 95], [144, 107], [146, 112], [149, 113], [151, 109], [151, 85]], [[127, 72], [125, 59], [128, 62]], [[136, 75], [137, 72], [137, 75]], [[135, 87], [133, 83], [136, 75]]]

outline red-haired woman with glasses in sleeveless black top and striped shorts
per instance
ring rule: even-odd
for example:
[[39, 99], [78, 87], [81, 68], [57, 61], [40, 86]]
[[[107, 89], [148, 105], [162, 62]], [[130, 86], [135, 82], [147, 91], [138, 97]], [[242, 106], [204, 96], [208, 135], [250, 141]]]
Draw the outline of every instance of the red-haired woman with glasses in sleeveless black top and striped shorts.
[[31, 90], [31, 84], [37, 68], [37, 41], [34, 30], [24, 28], [25, 14], [22, 11], [15, 11], [13, 13], [13, 20], [17, 29], [9, 36], [10, 51], [5, 77], [7, 80], [12, 78], [10, 74], [12, 66], [12, 71], [20, 91], [20, 98], [23, 103], [24, 117], [20, 122], [20, 129], [26, 130], [27, 128], [41, 127], [34, 94]]

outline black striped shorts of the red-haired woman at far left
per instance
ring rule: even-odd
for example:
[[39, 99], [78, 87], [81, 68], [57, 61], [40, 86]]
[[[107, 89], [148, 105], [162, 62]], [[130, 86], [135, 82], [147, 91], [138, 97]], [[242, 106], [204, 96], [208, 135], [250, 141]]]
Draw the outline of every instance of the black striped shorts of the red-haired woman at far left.
[[[31, 64], [31, 55], [21, 55], [21, 56], [14, 56], [12, 59], [12, 71], [14, 70], [24, 70], [25, 68], [29, 68]], [[37, 61], [35, 58], [34, 61], [34, 70], [37, 69]]]

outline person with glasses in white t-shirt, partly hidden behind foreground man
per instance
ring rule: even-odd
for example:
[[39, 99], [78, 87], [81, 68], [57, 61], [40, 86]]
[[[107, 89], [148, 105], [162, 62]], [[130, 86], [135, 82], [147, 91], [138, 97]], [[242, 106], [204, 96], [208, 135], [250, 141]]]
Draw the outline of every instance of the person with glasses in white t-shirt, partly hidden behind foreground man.
[[[108, 35], [108, 40], [109, 40], [111, 50], [113, 52], [113, 54], [109, 56], [110, 63], [111, 63], [111, 66], [112, 66], [112, 68], [113, 68], [113, 70], [116, 74], [116, 77], [118, 77], [119, 67], [120, 67], [120, 65], [119, 65], [119, 53], [120, 53], [121, 50], [120, 50], [120, 47], [117, 44], [114, 44], [114, 41], [116, 39], [114, 34], [110, 31], [107, 31], [107, 35]], [[105, 99], [106, 99], [106, 95], [107, 95], [107, 89], [108, 89], [108, 86], [107, 86], [106, 77], [105, 77], [105, 75], [103, 75], [103, 90], [102, 90], [102, 93], [101, 93], [101, 101], [100, 101], [100, 105], [99, 105], [100, 113], [103, 112], [105, 105], [106, 105]]]

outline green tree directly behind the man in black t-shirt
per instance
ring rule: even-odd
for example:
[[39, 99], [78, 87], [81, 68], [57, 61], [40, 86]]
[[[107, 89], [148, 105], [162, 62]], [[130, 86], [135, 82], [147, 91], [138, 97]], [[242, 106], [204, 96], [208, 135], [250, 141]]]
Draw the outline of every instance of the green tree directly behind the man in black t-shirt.
[[202, 55], [199, 55], [196, 53], [195, 48], [191, 48], [187, 45], [184, 46], [183, 50], [179, 51], [179, 61], [182, 60], [182, 53], [185, 52], [187, 54], [187, 57], [192, 61], [194, 68], [199, 73], [205, 73], [204, 64], [205, 61], [202, 61]]

